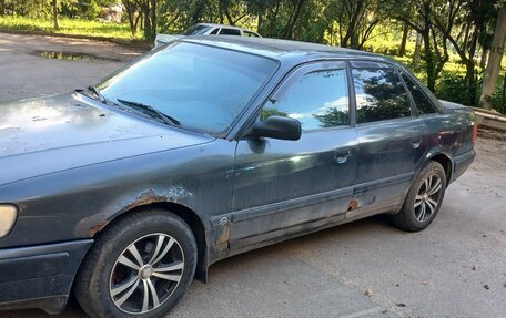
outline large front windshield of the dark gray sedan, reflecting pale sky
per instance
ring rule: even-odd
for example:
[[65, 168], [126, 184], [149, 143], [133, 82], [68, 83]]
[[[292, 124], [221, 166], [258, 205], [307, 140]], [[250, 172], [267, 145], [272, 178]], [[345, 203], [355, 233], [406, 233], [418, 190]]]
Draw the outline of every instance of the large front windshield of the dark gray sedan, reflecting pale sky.
[[118, 100], [149, 105], [181, 126], [226, 131], [276, 70], [273, 60], [193, 43], [173, 43], [126, 65], [98, 89]]

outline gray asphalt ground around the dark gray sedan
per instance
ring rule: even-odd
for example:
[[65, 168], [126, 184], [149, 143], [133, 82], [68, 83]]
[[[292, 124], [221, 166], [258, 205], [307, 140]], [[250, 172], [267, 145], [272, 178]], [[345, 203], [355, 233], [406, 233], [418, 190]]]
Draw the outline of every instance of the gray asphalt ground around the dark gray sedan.
[[[102, 59], [49, 60], [40, 50]], [[138, 54], [0, 33], [0, 101], [87, 86]], [[506, 317], [506, 139], [483, 132], [476, 151], [426, 230], [376, 216], [235, 256], [211, 267], [209, 284], [194, 281], [168, 317]], [[81, 316], [71, 301], [59, 317]]]

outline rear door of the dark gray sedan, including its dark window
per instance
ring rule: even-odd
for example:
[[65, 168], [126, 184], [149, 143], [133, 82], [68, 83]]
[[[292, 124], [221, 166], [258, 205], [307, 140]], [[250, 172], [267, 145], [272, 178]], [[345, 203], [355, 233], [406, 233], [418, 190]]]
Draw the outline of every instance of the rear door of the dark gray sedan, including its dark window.
[[354, 198], [385, 212], [398, 207], [427, 150], [426, 126], [389, 64], [352, 62], [358, 162]]

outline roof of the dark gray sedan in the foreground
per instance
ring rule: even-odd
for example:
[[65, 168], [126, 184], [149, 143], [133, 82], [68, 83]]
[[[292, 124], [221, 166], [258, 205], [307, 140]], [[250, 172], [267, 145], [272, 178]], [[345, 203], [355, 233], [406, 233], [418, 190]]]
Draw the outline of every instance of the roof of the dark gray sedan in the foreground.
[[363, 59], [375, 62], [387, 62], [398, 64], [396, 61], [378, 54], [344, 49], [324, 44], [289, 41], [269, 38], [245, 38], [245, 37], [188, 37], [179, 41], [193, 42], [229, 50], [242, 51], [279, 60], [282, 63], [303, 63], [316, 60], [331, 59]]

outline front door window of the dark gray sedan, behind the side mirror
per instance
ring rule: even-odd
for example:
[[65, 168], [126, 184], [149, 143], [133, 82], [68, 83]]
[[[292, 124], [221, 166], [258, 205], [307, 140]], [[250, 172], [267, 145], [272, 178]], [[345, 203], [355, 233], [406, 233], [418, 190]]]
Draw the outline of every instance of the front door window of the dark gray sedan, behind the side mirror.
[[348, 124], [346, 71], [332, 70], [305, 74], [275, 102], [267, 102], [262, 119], [282, 115], [296, 119], [303, 130]]

